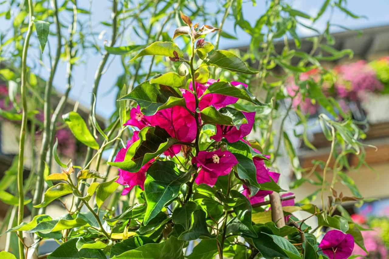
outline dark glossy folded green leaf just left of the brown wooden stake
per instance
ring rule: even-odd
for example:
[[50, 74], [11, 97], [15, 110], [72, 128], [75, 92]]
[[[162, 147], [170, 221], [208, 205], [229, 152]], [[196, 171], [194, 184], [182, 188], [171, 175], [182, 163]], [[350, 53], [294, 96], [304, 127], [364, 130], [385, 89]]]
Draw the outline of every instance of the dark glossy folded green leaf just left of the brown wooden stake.
[[236, 190], [231, 190], [230, 195], [232, 198], [239, 198], [240, 200], [243, 200], [244, 203], [238, 205], [237, 207], [234, 207], [234, 213], [237, 216], [233, 217], [227, 223], [225, 234], [231, 232], [238, 232], [248, 236], [258, 237], [258, 235], [255, 233], [254, 228], [252, 228], [252, 222], [251, 222], [252, 208], [249, 200], [247, 200], [247, 198], [242, 193]]

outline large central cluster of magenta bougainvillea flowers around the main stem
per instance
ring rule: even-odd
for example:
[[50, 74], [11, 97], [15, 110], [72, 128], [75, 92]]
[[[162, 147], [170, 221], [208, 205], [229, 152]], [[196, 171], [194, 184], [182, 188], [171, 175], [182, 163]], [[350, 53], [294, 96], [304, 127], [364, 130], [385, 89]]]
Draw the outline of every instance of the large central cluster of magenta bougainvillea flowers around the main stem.
[[[218, 80], [209, 79], [205, 84], [196, 83], [195, 87], [190, 83], [189, 90], [180, 89], [182, 96], [186, 101], [187, 109], [181, 106], [174, 106], [158, 111], [155, 115], [145, 116], [140, 111], [140, 107], [137, 106], [137, 108], [131, 109], [130, 119], [124, 125], [130, 125], [137, 127], [138, 129], [143, 129], [146, 126], [159, 126], [165, 129], [171, 137], [178, 141], [192, 143], [195, 140], [197, 133], [196, 120], [193, 116], [193, 113], [195, 113], [196, 110], [194, 91], [196, 91], [199, 99], [198, 107], [200, 111], [209, 106], [214, 106], [216, 109], [219, 109], [238, 101], [238, 98], [236, 97], [221, 94], [204, 94], [205, 90], [207, 90], [212, 83], [217, 81]], [[247, 85], [240, 82], [231, 82], [231, 84], [234, 86], [242, 84], [247, 87]], [[225, 138], [230, 143], [243, 140], [243, 138], [252, 130], [255, 112], [244, 112], [244, 115], [247, 118], [247, 123], [240, 125], [239, 129], [235, 126], [216, 125], [216, 134], [212, 136], [211, 139], [220, 141], [222, 138]], [[198, 118], [198, 120], [201, 125], [201, 119]], [[119, 153], [117, 153], [115, 162], [124, 161], [128, 148], [130, 148], [138, 139], [138, 131], [135, 131], [132, 138], [127, 142], [126, 148], [122, 148]], [[181, 149], [181, 144], [175, 144], [165, 151], [164, 155], [172, 157], [178, 154]], [[153, 161], [154, 160], [151, 160], [146, 163], [138, 172], [128, 172], [119, 169], [119, 179], [117, 180], [117, 183], [128, 186], [124, 188], [122, 195], [127, 194], [137, 185], [143, 189], [145, 172]], [[218, 149], [214, 151], [200, 151], [197, 156], [192, 158], [191, 162], [200, 169], [198, 171], [198, 176], [196, 177], [196, 183], [205, 183], [213, 186], [217, 181], [217, 177], [230, 173], [231, 168], [238, 163], [238, 160], [230, 151]]]

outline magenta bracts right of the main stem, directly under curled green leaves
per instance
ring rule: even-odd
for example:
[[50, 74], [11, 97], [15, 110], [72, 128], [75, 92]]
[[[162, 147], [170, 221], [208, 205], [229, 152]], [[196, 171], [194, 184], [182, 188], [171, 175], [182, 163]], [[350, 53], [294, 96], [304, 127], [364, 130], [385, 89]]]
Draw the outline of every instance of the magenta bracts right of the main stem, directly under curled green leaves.
[[246, 116], [248, 123], [240, 125], [239, 129], [235, 126], [216, 124], [216, 134], [210, 137], [210, 139], [221, 141], [224, 137], [228, 142], [233, 143], [247, 136], [251, 132], [252, 125], [254, 124], [255, 111], [251, 113], [242, 111], [242, 113]]

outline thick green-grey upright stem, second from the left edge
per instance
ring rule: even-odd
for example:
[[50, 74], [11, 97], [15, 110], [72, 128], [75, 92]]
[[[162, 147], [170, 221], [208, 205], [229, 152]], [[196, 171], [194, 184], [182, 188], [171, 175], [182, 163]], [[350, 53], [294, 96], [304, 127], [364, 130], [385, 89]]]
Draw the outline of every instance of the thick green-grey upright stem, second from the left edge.
[[[39, 153], [39, 167], [37, 174], [37, 185], [35, 188], [33, 205], [38, 205], [42, 202], [42, 193], [44, 193], [44, 168], [47, 155], [47, 147], [50, 141], [50, 113], [51, 113], [51, 90], [53, 88], [54, 75], [57, 70], [58, 61], [60, 60], [62, 42], [61, 42], [61, 24], [58, 20], [58, 6], [57, 0], [51, 0], [51, 5], [54, 9], [54, 23], [56, 24], [56, 35], [57, 35], [57, 50], [53, 63], [51, 64], [51, 71], [49, 79], [46, 82], [45, 93], [44, 93], [44, 125], [42, 135], [42, 146]], [[31, 218], [38, 214], [39, 208], [33, 207], [31, 211]]]

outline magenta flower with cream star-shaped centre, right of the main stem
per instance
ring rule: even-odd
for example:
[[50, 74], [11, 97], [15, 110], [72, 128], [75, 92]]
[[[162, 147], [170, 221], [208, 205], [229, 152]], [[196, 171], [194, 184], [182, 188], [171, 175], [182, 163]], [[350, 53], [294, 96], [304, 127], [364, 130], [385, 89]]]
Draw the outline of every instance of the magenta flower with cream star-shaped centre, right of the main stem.
[[192, 158], [192, 163], [201, 167], [196, 184], [208, 184], [214, 186], [217, 177], [225, 176], [231, 171], [231, 167], [238, 163], [237, 158], [230, 151], [200, 151], [198, 155]]

